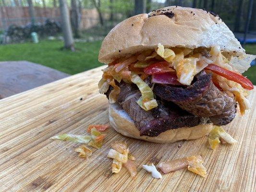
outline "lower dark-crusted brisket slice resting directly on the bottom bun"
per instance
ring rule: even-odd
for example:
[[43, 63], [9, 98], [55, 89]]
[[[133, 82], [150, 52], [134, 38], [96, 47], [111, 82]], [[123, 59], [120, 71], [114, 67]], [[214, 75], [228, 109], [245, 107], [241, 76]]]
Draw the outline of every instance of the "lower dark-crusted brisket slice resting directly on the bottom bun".
[[[136, 85], [121, 82], [118, 86], [121, 92], [117, 102], [134, 120], [134, 124], [140, 131], [141, 136], [154, 137], [167, 130], [179, 127], [194, 127], [205, 123], [208, 119], [192, 115], [171, 102], [164, 104], [158, 101], [157, 108], [145, 111], [136, 103], [141, 96]], [[108, 96], [109, 93], [107, 92], [106, 95]]]

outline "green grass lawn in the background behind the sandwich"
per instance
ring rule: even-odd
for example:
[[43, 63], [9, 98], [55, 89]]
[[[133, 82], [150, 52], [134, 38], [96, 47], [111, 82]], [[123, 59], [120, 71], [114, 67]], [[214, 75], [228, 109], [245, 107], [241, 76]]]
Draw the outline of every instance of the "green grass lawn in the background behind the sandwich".
[[[61, 50], [59, 40], [43, 40], [38, 44], [21, 43], [0, 46], [0, 61], [28, 60], [62, 72], [75, 74], [98, 67], [100, 41], [75, 43], [75, 52]], [[256, 44], [246, 45], [246, 53], [256, 55]], [[256, 85], [256, 66], [244, 73]]]

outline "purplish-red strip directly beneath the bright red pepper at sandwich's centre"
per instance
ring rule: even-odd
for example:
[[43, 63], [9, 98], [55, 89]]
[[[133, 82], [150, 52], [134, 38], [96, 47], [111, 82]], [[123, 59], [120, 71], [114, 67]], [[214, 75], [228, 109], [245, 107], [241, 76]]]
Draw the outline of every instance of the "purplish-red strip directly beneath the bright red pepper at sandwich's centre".
[[177, 81], [177, 75], [175, 72], [166, 72], [161, 74], [152, 75], [152, 83], [157, 84], [172, 84], [172, 85], [183, 85]]

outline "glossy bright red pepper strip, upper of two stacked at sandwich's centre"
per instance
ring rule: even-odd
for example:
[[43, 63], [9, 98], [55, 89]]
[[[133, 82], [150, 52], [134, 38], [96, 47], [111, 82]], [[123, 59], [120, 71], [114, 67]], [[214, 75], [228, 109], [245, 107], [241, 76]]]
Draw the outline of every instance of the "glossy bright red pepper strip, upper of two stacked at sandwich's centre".
[[150, 75], [173, 72], [173, 69], [171, 69], [169, 65], [170, 64], [167, 61], [160, 61], [145, 67], [144, 72]]

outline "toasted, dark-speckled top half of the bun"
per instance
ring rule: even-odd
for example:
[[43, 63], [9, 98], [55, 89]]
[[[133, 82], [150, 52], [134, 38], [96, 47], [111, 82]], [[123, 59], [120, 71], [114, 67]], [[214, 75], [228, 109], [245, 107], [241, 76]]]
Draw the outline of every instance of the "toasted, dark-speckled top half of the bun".
[[165, 7], [117, 24], [102, 42], [98, 60], [109, 63], [127, 54], [167, 47], [220, 46], [235, 56], [244, 49], [226, 24], [212, 12], [187, 7]]

